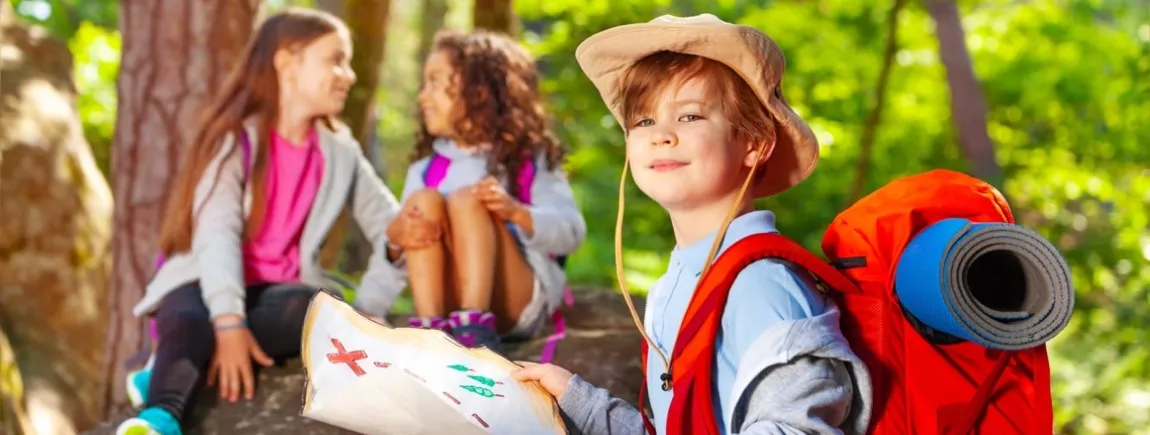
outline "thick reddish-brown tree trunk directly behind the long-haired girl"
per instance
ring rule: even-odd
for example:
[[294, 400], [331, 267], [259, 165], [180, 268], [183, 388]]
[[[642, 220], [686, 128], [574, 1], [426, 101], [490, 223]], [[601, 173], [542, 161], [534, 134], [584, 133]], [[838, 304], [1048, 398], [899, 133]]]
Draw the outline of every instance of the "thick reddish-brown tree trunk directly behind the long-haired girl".
[[153, 272], [171, 178], [194, 139], [201, 112], [241, 54], [261, 8], [260, 0], [121, 5], [106, 414], [125, 403], [124, 362], [145, 342], [145, 319], [133, 316], [131, 310]]

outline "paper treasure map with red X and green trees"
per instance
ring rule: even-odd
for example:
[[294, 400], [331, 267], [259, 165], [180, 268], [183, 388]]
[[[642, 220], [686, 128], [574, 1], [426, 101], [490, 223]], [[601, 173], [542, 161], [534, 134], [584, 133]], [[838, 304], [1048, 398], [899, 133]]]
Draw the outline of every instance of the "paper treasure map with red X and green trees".
[[439, 330], [390, 328], [321, 291], [304, 322], [302, 415], [362, 434], [566, 434], [514, 362]]

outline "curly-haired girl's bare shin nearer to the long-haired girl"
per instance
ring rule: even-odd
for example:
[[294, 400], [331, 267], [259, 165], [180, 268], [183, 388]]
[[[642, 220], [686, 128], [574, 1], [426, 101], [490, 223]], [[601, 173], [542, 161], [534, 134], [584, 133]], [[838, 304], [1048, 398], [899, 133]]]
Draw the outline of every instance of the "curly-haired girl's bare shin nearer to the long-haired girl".
[[[423, 189], [412, 193], [404, 203], [404, 212], [408, 207], [419, 209], [423, 219], [439, 222], [447, 228], [446, 205], [443, 196], [434, 189]], [[443, 316], [446, 313], [444, 295], [446, 293], [447, 243], [448, 234], [444, 231], [440, 243], [430, 247], [407, 251], [407, 272], [412, 285], [412, 302], [415, 315], [421, 318]]]

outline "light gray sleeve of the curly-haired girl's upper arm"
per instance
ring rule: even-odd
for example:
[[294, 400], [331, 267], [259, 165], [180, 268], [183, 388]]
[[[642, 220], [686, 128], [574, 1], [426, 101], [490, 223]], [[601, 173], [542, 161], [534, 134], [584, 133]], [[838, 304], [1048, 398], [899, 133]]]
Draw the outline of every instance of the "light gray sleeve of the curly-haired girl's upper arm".
[[531, 184], [531, 222], [535, 234], [523, 236], [528, 247], [550, 254], [566, 255], [578, 249], [586, 237], [583, 212], [575, 204], [575, 193], [567, 183], [567, 175], [560, 170], [544, 170], [546, 162], [536, 163], [535, 182]]

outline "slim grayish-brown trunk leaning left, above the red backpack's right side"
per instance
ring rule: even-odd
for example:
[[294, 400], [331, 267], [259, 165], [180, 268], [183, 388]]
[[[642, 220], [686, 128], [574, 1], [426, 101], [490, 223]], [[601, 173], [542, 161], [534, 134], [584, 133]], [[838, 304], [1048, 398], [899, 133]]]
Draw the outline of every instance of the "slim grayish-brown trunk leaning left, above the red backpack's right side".
[[953, 0], [926, 0], [926, 3], [927, 12], [935, 22], [938, 55], [946, 68], [951, 119], [954, 121], [963, 154], [969, 160], [974, 176], [1002, 190], [1002, 169], [987, 132], [987, 101], [982, 97], [982, 86], [974, 75], [974, 64], [966, 49], [958, 6]]

